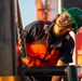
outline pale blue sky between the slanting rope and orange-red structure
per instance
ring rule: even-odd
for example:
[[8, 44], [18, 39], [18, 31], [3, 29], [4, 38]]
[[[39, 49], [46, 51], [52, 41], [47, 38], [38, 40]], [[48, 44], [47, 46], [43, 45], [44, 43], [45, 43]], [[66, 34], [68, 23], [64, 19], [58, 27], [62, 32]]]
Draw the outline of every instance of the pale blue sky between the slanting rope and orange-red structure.
[[37, 19], [36, 0], [19, 0], [23, 27]]

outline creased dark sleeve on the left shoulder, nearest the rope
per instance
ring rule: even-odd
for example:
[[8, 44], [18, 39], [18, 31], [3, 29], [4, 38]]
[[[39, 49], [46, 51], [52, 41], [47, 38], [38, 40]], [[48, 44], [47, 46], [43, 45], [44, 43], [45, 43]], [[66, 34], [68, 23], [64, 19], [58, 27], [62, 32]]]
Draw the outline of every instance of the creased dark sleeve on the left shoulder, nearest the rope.
[[26, 43], [35, 41], [39, 37], [43, 26], [44, 26], [43, 21], [36, 21], [27, 25], [24, 29]]

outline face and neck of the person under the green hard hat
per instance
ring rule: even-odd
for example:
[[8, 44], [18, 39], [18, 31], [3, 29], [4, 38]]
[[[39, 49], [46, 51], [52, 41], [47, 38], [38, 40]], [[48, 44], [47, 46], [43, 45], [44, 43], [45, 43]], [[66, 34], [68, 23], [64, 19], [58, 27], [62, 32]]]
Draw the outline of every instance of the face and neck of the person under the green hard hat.
[[60, 16], [56, 19], [56, 25], [54, 27], [55, 36], [59, 37], [69, 31], [74, 30], [72, 27], [73, 21], [67, 12], [60, 14]]

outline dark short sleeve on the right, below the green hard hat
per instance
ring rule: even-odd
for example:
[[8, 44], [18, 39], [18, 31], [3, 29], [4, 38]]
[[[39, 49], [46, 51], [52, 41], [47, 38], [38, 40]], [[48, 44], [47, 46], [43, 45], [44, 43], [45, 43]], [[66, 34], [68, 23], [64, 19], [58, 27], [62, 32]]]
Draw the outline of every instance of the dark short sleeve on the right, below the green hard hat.
[[74, 41], [71, 38], [66, 46], [60, 51], [59, 59], [64, 63], [72, 63], [72, 55], [74, 50]]

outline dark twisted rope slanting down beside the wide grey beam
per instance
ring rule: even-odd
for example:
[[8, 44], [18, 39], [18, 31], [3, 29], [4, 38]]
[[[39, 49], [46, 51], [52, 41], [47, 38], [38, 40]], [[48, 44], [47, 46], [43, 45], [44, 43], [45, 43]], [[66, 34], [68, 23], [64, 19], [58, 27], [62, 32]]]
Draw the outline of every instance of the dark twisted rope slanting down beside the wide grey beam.
[[24, 30], [23, 30], [23, 24], [22, 24], [22, 17], [20, 17], [20, 12], [19, 12], [19, 6], [18, 6], [18, 1], [17, 1], [17, 31], [18, 31], [18, 45], [20, 46], [20, 57], [27, 57], [26, 55], [26, 48], [25, 48], [25, 38], [24, 38]]

